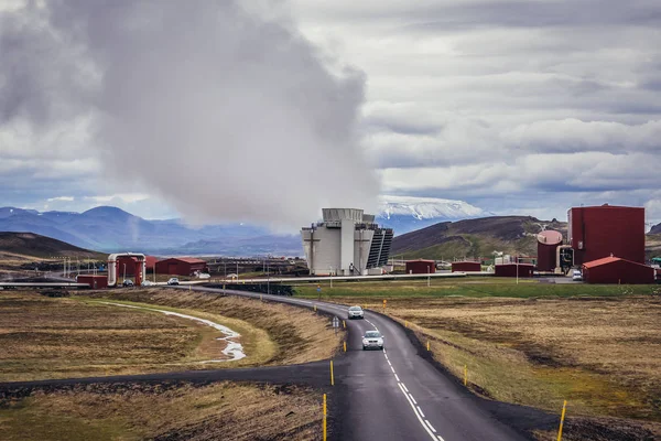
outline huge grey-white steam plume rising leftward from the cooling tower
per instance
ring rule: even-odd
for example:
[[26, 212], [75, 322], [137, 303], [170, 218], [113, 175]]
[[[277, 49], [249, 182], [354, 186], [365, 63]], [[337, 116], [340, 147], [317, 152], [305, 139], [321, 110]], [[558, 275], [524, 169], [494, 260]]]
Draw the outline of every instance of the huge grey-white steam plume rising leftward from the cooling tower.
[[364, 76], [332, 74], [280, 9], [39, 4], [0, 11], [0, 126], [45, 132], [91, 116], [107, 175], [195, 223], [303, 225], [322, 206], [376, 207], [356, 137]]

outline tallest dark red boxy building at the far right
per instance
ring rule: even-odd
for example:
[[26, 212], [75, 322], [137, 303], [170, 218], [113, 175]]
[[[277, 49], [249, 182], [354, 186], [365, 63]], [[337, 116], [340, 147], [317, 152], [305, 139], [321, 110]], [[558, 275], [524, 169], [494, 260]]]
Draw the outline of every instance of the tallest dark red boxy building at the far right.
[[567, 218], [574, 263], [611, 255], [644, 263], [644, 208], [608, 204], [574, 207]]

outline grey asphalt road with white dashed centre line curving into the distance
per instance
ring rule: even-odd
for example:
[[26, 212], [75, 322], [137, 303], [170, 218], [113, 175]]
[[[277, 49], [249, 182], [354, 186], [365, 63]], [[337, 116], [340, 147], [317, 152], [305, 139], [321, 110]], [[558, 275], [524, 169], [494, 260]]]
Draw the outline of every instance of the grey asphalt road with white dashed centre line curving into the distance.
[[[218, 289], [194, 288], [218, 292]], [[229, 291], [228, 291], [229, 292]], [[259, 298], [259, 293], [231, 291]], [[312, 300], [266, 295], [264, 300], [347, 318], [348, 306]], [[405, 330], [387, 316], [366, 311], [365, 320], [346, 320], [347, 354], [337, 359], [335, 385], [343, 389], [342, 440], [527, 440], [519, 430], [549, 426], [554, 419], [534, 409], [475, 397], [419, 355]], [[361, 336], [378, 330], [384, 351], [362, 351]]]

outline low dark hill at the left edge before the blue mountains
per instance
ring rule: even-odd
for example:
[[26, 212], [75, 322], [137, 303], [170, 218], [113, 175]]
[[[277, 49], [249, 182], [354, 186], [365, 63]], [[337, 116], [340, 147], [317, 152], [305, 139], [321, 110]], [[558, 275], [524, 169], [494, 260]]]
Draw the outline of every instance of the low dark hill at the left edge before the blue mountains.
[[24, 257], [50, 258], [56, 256], [102, 259], [107, 255], [78, 248], [65, 241], [41, 236], [34, 233], [0, 233], [0, 254]]

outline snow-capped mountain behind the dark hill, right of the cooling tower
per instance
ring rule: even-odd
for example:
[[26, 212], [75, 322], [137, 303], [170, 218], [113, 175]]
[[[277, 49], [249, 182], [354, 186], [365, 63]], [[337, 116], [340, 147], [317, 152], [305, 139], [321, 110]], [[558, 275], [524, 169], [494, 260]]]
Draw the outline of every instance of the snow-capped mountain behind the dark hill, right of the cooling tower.
[[402, 235], [441, 222], [492, 215], [463, 201], [435, 197], [382, 196], [377, 222]]

